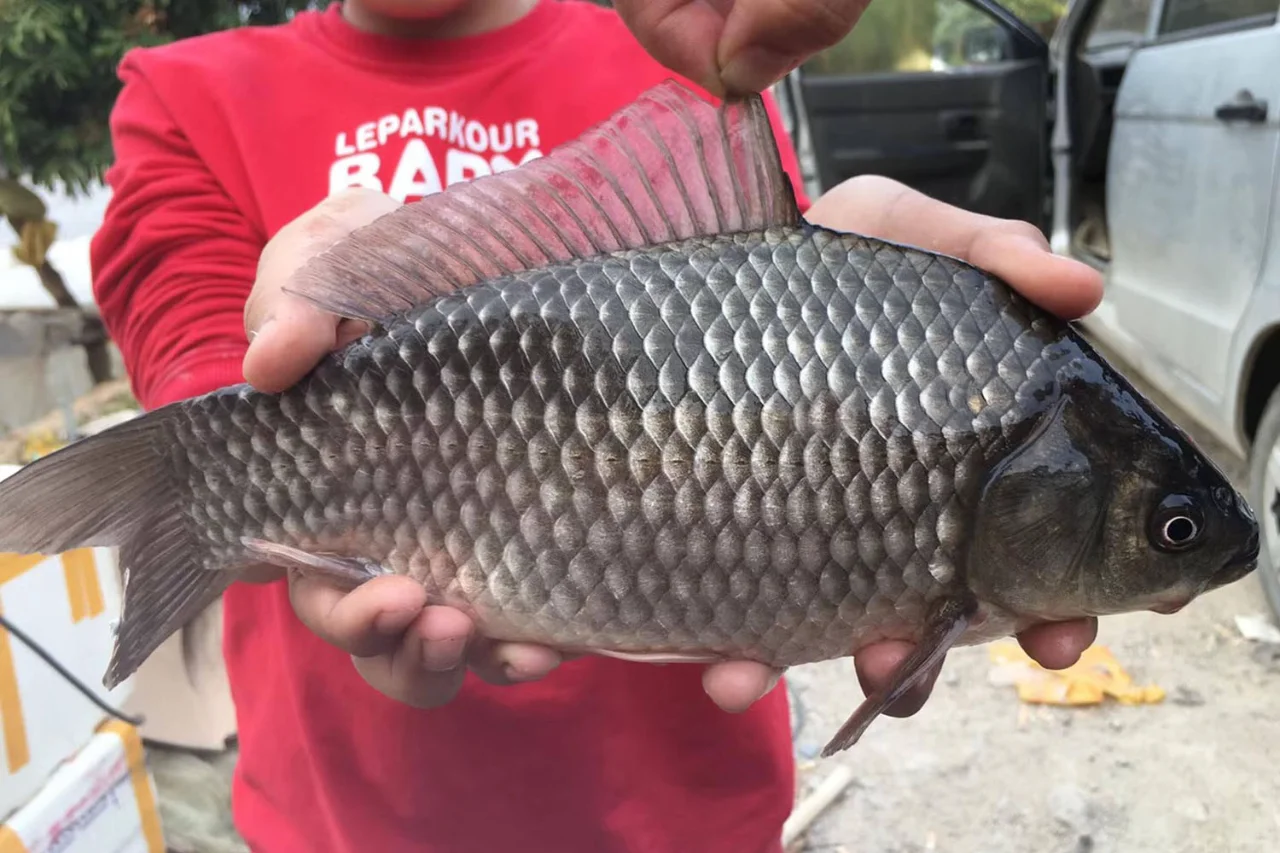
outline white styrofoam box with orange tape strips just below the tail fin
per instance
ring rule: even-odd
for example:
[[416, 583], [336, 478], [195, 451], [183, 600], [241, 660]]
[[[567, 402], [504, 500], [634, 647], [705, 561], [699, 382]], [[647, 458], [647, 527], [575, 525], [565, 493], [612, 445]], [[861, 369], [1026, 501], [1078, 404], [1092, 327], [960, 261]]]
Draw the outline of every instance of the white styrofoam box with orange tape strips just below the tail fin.
[[[0, 479], [18, 466], [0, 466]], [[120, 707], [125, 680], [102, 686], [119, 616], [115, 551], [0, 553], [0, 612], [104, 702]], [[9, 631], [0, 630], [0, 818], [93, 736], [106, 715]]]

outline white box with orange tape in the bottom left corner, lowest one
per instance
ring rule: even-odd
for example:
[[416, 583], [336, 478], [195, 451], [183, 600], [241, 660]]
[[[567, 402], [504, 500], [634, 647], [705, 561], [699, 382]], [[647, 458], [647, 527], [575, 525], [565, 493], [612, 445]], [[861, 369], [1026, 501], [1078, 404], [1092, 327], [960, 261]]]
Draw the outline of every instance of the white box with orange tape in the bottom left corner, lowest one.
[[164, 853], [142, 740], [113, 720], [0, 826], [0, 853]]

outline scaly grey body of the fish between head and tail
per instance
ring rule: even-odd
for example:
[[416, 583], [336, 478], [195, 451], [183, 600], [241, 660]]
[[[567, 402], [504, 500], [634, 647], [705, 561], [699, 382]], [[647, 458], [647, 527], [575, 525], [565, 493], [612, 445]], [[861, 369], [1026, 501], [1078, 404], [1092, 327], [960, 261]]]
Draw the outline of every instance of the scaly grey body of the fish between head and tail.
[[[1010, 438], [948, 405], [982, 380], [940, 386], [934, 347], [1012, 316], [1041, 355], [1009, 346], [1000, 370], [1041, 391], [1074, 353], [984, 284], [820, 229], [495, 279], [407, 313], [305, 389], [189, 409], [192, 520], [228, 548], [358, 552], [513, 640], [788, 666], [913, 638]], [[840, 350], [824, 362], [797, 334]]]

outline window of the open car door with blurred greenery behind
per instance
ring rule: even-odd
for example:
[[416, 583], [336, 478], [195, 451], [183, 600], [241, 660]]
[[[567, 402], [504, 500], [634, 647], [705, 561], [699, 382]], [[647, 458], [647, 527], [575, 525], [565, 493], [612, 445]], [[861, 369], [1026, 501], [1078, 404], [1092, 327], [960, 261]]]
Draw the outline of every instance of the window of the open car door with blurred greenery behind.
[[[1004, 0], [1046, 38], [1066, 0]], [[1009, 29], [964, 0], [873, 0], [854, 31], [805, 63], [809, 76], [947, 72], [1012, 59]]]

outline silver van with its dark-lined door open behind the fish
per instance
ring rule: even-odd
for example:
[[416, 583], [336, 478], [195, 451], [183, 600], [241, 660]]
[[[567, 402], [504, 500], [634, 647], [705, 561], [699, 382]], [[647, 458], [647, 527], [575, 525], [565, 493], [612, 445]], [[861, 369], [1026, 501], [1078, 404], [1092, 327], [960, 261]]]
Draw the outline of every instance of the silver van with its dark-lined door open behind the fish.
[[1248, 460], [1280, 616], [1280, 0], [874, 0], [777, 88], [810, 192], [884, 174], [1105, 274], [1085, 329]]

